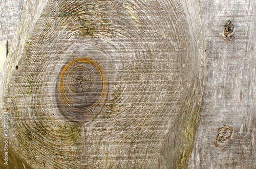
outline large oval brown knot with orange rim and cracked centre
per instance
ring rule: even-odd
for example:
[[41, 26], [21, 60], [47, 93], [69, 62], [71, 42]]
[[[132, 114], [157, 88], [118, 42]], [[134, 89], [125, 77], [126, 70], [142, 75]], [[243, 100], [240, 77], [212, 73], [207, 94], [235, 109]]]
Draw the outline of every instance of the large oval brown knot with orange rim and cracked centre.
[[89, 58], [75, 58], [61, 70], [56, 85], [60, 112], [73, 122], [86, 122], [102, 109], [108, 80], [102, 68]]

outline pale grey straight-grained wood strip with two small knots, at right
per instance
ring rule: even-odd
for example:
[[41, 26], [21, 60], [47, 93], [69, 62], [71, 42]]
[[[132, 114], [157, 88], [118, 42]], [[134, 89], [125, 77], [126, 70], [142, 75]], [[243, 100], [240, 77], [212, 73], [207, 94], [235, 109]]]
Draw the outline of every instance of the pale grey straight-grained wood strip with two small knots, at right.
[[[255, 168], [256, 3], [200, 1], [200, 9], [208, 64], [187, 168]], [[226, 37], [228, 20], [235, 31]]]

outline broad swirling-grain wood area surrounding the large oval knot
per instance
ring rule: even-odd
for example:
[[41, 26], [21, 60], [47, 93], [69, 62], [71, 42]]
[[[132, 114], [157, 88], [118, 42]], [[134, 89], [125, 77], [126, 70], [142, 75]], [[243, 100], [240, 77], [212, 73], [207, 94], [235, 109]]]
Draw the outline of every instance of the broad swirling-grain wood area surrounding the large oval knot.
[[[34, 168], [185, 167], [206, 68], [197, 2], [30, 2], [1, 81], [13, 152]], [[108, 82], [86, 123], [67, 118], [56, 94], [76, 58], [96, 62]], [[81, 77], [69, 84], [68, 94], [89, 93]]]

